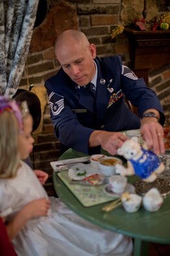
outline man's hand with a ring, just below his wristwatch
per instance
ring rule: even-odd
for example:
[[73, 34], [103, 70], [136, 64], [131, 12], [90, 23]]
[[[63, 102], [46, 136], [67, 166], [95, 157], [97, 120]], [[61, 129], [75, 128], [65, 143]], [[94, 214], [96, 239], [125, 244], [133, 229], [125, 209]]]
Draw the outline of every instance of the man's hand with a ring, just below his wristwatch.
[[165, 153], [164, 129], [156, 118], [143, 118], [140, 132], [148, 149], [151, 149], [155, 154]]

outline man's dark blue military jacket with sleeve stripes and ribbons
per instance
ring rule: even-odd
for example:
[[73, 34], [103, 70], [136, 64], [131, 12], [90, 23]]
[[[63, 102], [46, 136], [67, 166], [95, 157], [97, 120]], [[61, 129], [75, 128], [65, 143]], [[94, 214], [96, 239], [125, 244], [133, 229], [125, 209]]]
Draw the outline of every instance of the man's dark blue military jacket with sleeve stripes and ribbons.
[[96, 96], [84, 86], [78, 86], [61, 68], [47, 79], [51, 120], [56, 137], [62, 144], [89, 153], [88, 142], [94, 130], [123, 131], [140, 128], [140, 118], [125, 104], [125, 97], [136, 107], [139, 115], [147, 109], [164, 114], [156, 94], [143, 79], [138, 79], [119, 56], [95, 58], [97, 64]]

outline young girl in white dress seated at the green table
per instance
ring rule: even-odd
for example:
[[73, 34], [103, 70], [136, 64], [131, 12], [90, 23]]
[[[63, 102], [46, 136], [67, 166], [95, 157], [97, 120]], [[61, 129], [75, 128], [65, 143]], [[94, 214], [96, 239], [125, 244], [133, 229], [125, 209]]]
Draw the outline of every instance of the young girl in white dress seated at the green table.
[[131, 255], [129, 237], [101, 229], [48, 198], [36, 174], [20, 159], [32, 151], [26, 107], [0, 96], [0, 216], [18, 255]]

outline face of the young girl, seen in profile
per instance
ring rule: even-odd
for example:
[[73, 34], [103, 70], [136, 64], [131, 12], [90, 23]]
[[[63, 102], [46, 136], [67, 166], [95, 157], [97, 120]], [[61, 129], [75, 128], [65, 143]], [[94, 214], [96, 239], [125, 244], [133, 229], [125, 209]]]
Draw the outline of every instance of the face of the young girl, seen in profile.
[[32, 138], [31, 132], [32, 116], [29, 114], [23, 120], [23, 133], [19, 134], [18, 137], [19, 155], [21, 159], [26, 159], [32, 152], [34, 138]]

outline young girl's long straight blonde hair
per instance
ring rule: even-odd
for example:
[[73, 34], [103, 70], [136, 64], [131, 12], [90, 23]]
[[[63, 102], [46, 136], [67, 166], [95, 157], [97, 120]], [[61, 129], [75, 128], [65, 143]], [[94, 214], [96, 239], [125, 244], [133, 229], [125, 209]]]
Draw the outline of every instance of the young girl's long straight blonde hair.
[[13, 178], [19, 166], [19, 123], [14, 112], [0, 114], [0, 178]]

